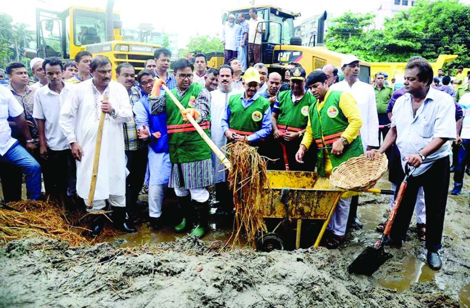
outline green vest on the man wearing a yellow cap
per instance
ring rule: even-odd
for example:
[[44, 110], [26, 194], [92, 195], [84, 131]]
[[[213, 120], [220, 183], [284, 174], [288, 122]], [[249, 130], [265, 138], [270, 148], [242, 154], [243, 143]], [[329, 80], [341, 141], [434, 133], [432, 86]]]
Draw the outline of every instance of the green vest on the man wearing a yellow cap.
[[233, 95], [229, 99], [229, 128], [239, 135], [249, 136], [261, 129], [264, 112], [270, 104], [260, 96], [250, 106], [244, 108], [241, 103], [242, 95], [245, 94]]

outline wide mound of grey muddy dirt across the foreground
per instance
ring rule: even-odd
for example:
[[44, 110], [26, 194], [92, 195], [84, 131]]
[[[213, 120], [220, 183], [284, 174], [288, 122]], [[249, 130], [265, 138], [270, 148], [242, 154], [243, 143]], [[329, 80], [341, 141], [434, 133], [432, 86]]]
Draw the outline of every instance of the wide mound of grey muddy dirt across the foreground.
[[346, 273], [337, 251], [219, 252], [220, 243], [183, 237], [130, 249], [71, 247], [43, 238], [0, 248], [3, 306], [53, 307], [453, 307], [417, 284], [396, 293]]

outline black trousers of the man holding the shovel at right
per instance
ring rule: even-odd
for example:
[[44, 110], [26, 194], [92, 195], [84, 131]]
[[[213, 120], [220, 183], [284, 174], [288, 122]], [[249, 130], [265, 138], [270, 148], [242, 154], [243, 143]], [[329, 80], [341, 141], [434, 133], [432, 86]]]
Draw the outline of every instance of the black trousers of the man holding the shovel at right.
[[[402, 180], [403, 177], [404, 175]], [[426, 248], [429, 251], [437, 252], [442, 246], [441, 239], [444, 229], [449, 179], [449, 156], [436, 160], [426, 172], [409, 177], [403, 199], [390, 231], [390, 237], [394, 240], [405, 239], [414, 205], [416, 204], [418, 190], [423, 187], [426, 203]], [[399, 189], [400, 187], [397, 186], [395, 196]]]

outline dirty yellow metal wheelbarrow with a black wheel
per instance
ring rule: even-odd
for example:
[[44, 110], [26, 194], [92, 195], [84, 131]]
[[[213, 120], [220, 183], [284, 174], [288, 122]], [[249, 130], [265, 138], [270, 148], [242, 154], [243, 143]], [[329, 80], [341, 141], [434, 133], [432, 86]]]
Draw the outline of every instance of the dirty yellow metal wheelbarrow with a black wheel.
[[[269, 231], [264, 225], [265, 234], [258, 237], [258, 250], [271, 251], [283, 249], [282, 238], [275, 233], [286, 219], [296, 220], [295, 249], [300, 248], [302, 220], [324, 220], [320, 233], [314, 243], [318, 247], [336, 205], [345, 190], [334, 187], [325, 177], [315, 172], [303, 171], [268, 171], [271, 191], [264, 196], [260, 204], [263, 219], [277, 218], [281, 222]], [[268, 188], [266, 188], [268, 190]], [[393, 195], [391, 190], [369, 189], [368, 193]]]

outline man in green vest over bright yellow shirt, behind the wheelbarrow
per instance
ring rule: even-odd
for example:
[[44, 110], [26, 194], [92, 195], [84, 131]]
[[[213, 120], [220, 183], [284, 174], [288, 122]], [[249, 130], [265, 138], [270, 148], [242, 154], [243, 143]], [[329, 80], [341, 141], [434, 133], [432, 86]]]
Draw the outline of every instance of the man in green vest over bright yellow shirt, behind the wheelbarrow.
[[[362, 125], [361, 113], [350, 94], [329, 89], [325, 73], [312, 72], [307, 85], [317, 101], [310, 107], [307, 130], [295, 159], [303, 164], [305, 152], [315, 141], [319, 149], [317, 172], [328, 177], [334, 167], [363, 153], [361, 137], [358, 136]], [[324, 237], [324, 244], [329, 249], [337, 248], [344, 240], [350, 204], [351, 196], [343, 194], [328, 224], [329, 232]]]

